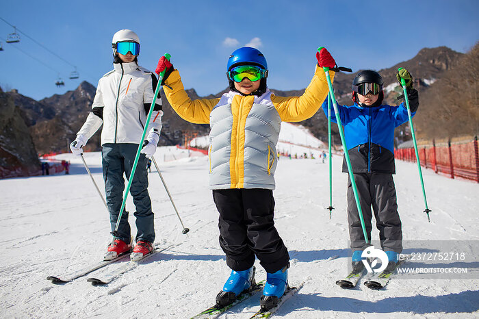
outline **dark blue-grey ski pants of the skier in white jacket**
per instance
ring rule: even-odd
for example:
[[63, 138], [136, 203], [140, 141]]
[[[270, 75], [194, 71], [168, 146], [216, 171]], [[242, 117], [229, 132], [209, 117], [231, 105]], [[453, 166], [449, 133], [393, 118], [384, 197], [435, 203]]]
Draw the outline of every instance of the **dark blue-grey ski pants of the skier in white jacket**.
[[[123, 173], [129, 180], [137, 151], [138, 144], [103, 144], [101, 151], [103, 157], [103, 179], [105, 179], [109, 221], [112, 231], [115, 229], [123, 201], [123, 191], [125, 190]], [[154, 215], [151, 211], [151, 199], [148, 194], [147, 162], [145, 155], [141, 154], [131, 183], [130, 194], [133, 197], [133, 203], [136, 208], [134, 213], [136, 228], [138, 229], [136, 241], [144, 240], [153, 243], [155, 241], [155, 225]], [[116, 238], [127, 243], [130, 242], [131, 229], [126, 209], [123, 210], [120, 225], [118, 225], [118, 233], [119, 235]]]

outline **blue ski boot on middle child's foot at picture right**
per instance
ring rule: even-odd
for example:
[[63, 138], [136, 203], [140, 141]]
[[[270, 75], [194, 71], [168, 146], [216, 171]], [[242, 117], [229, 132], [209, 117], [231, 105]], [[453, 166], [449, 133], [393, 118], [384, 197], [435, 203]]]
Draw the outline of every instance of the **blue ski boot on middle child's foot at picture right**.
[[285, 294], [285, 292], [289, 289], [287, 284], [287, 268], [289, 265], [285, 266], [285, 268], [274, 272], [271, 274], [270, 272], [266, 272], [266, 285], [264, 286], [263, 296], [259, 301], [259, 305], [261, 306], [261, 310], [267, 311], [273, 307], [276, 307], [279, 302], [279, 298]]

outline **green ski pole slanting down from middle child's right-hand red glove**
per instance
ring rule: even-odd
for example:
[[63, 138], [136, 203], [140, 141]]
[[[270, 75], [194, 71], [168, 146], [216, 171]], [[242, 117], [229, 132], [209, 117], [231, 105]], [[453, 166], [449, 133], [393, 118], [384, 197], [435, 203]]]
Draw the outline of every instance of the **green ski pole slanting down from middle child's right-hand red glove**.
[[[318, 52], [321, 51], [323, 47], [318, 48]], [[339, 111], [337, 108], [335, 92], [333, 91], [333, 85], [331, 84], [331, 77], [329, 76], [329, 68], [323, 66], [324, 73], [326, 74], [326, 81], [328, 82], [329, 94], [331, 95], [331, 101], [333, 101], [333, 108], [335, 110], [336, 120], [337, 120], [337, 129], [339, 130], [339, 136], [341, 137], [341, 144], [343, 144], [344, 157], [346, 158], [346, 164], [348, 165], [349, 178], [351, 179], [352, 192], [354, 193], [354, 199], [356, 200], [356, 205], [358, 207], [359, 219], [361, 220], [361, 227], [363, 228], [364, 239], [366, 244], [369, 244], [370, 241], [367, 238], [366, 227], [364, 225], [363, 211], [361, 210], [361, 204], [359, 203], [359, 195], [356, 187], [356, 181], [354, 181], [354, 175], [352, 173], [351, 161], [349, 159], [348, 148], [346, 147], [346, 140], [344, 140], [344, 133], [341, 124], [341, 117], [339, 116]]]

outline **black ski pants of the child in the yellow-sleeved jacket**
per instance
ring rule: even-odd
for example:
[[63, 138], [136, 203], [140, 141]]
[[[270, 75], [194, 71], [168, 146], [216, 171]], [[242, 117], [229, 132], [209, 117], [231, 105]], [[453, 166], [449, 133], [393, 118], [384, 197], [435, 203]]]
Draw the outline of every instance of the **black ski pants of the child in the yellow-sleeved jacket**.
[[255, 255], [266, 272], [276, 272], [289, 264], [287, 248], [274, 227], [272, 190], [213, 190], [213, 200], [220, 212], [220, 246], [229, 268], [251, 268]]

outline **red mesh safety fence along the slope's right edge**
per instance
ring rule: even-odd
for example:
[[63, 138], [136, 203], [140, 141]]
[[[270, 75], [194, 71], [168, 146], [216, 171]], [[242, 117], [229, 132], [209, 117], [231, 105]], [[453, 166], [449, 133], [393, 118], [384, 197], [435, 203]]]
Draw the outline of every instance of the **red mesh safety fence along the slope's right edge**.
[[[451, 178], [462, 177], [479, 183], [478, 137], [474, 140], [423, 143], [417, 145], [419, 163]], [[396, 159], [416, 162], [414, 148], [396, 149]]]

